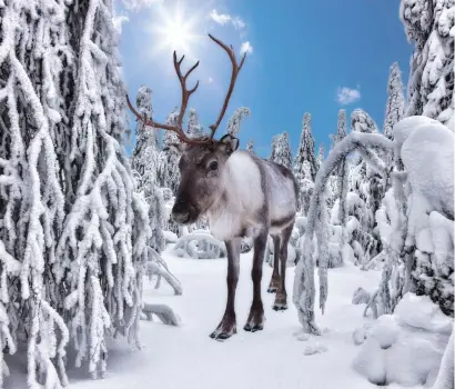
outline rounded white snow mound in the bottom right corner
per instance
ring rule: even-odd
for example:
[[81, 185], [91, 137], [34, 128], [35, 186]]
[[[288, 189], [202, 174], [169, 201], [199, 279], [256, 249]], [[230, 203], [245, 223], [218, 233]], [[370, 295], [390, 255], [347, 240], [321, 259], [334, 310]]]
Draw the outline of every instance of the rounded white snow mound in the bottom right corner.
[[452, 331], [446, 317], [428, 297], [406, 293], [394, 315], [383, 315], [371, 330], [358, 328], [353, 340], [360, 351], [355, 371], [370, 382], [385, 386], [431, 387]]

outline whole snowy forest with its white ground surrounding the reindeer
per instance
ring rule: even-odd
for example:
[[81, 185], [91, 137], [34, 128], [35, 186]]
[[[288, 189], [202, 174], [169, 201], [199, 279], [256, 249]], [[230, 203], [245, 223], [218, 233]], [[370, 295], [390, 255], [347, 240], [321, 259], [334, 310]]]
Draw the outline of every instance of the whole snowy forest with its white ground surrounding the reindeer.
[[[112, 1], [0, 0], [0, 388], [453, 389], [455, 2], [396, 8], [413, 54], [408, 80], [384, 69], [383, 122], [340, 109], [316, 149], [302, 107], [301, 128], [265, 140], [297, 186], [290, 307], [264, 292], [264, 330], [216, 342], [232, 249], [208, 215], [172, 217], [182, 138], [148, 124], [154, 86], [130, 96], [131, 120]], [[226, 112], [216, 137], [260, 159], [264, 139], [242, 136], [254, 112]], [[189, 140], [202, 122], [190, 101]], [[240, 238], [243, 320], [256, 245]]]

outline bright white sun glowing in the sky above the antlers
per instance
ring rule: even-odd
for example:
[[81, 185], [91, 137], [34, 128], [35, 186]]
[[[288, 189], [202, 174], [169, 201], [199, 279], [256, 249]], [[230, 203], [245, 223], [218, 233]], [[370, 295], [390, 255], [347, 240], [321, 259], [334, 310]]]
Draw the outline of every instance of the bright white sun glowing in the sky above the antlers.
[[185, 12], [180, 2], [173, 9], [161, 6], [158, 20], [152, 28], [159, 50], [178, 51], [178, 54], [192, 56], [200, 36], [195, 32], [200, 18]]

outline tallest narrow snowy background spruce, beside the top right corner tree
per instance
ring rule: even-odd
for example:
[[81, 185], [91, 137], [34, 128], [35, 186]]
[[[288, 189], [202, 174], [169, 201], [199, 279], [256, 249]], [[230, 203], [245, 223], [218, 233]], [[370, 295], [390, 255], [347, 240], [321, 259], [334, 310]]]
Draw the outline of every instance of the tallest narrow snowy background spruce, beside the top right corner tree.
[[393, 127], [404, 118], [405, 100], [403, 92], [402, 72], [398, 62], [392, 63], [387, 84], [387, 104], [385, 107], [385, 118], [383, 133], [388, 139], [393, 139]]

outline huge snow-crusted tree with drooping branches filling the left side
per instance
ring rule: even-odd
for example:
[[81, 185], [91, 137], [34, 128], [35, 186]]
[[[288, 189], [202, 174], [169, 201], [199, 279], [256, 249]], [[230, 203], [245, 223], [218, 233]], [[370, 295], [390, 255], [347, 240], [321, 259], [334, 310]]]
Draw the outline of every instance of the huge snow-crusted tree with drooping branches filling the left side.
[[70, 341], [94, 377], [108, 336], [138, 341], [149, 222], [123, 148], [112, 2], [0, 9], [2, 352], [27, 342], [28, 386], [53, 389]]

